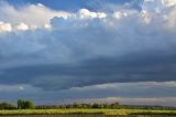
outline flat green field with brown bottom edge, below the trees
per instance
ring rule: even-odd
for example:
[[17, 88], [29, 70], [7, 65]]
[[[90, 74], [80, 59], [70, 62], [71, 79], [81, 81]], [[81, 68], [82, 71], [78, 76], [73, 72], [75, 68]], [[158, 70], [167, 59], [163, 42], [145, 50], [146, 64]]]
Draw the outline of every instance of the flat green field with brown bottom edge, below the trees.
[[[176, 110], [144, 109], [21, 109], [0, 110], [0, 116], [14, 117], [176, 117]], [[29, 115], [29, 116], [28, 116]], [[33, 115], [33, 116], [32, 116]], [[59, 116], [58, 116], [59, 115]], [[154, 116], [153, 116], [154, 115]]]

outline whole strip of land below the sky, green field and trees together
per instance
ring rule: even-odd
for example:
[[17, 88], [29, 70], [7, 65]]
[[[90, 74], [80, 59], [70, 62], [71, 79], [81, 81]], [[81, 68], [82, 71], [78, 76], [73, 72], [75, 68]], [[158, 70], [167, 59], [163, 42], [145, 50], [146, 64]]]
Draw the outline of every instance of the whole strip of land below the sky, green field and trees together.
[[34, 106], [32, 100], [19, 99], [16, 106], [0, 104], [2, 115], [61, 115], [61, 114], [98, 114], [98, 115], [170, 115], [176, 116], [176, 108], [162, 106], [128, 106], [113, 104], [80, 104], [59, 106]]

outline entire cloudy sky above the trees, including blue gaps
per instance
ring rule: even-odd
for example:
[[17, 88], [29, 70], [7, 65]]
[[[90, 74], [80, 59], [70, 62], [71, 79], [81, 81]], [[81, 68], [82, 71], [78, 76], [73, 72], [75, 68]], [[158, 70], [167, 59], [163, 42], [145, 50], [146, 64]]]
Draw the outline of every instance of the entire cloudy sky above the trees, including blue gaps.
[[0, 102], [176, 107], [175, 0], [0, 0]]

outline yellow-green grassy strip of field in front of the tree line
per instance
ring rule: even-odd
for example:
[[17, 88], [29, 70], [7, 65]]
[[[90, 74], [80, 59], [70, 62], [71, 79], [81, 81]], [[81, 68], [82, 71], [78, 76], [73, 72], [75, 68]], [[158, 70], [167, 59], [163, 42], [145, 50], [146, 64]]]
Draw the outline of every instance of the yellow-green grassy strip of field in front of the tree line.
[[102, 114], [102, 115], [175, 115], [176, 110], [143, 110], [143, 109], [21, 109], [0, 110], [4, 115], [59, 115], [59, 114]]

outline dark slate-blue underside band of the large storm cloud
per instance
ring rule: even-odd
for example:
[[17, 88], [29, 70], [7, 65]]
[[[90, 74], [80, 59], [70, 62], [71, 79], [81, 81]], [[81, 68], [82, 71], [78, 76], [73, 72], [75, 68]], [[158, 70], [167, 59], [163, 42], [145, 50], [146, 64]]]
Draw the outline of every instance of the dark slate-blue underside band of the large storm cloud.
[[123, 57], [99, 57], [76, 65], [31, 65], [0, 74], [1, 84], [30, 84], [43, 89], [68, 89], [106, 83], [176, 81], [176, 56], [132, 54]]

